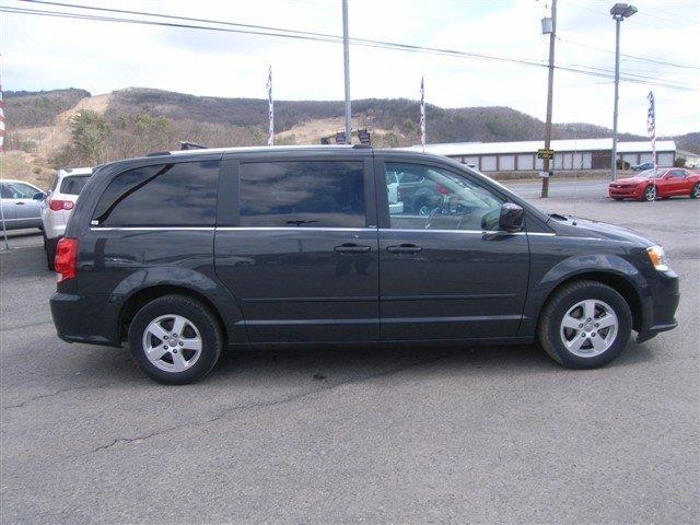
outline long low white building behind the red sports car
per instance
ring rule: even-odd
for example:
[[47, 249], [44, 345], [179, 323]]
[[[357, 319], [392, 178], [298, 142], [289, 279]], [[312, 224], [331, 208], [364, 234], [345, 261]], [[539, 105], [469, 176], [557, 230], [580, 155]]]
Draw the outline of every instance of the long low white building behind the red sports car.
[[[544, 148], [541, 140], [524, 142], [456, 142], [427, 144], [425, 153], [450, 156], [482, 172], [511, 172], [542, 170], [537, 150]], [[410, 149], [420, 149], [413, 145]], [[612, 139], [552, 140], [555, 171], [557, 170], [607, 170], [610, 167]], [[617, 143], [618, 159], [630, 165], [652, 160], [650, 141]], [[674, 165], [676, 143], [673, 140], [656, 141], [656, 159], [660, 167]]]

